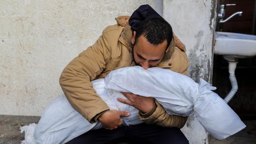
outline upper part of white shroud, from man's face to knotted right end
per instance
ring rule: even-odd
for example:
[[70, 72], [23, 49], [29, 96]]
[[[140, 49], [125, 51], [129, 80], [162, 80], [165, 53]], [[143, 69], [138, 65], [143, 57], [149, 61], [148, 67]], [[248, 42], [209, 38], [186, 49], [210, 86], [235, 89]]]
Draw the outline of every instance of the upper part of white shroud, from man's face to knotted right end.
[[217, 139], [229, 137], [246, 127], [228, 104], [211, 91], [216, 87], [203, 79], [198, 84], [188, 76], [171, 70], [145, 70], [132, 66], [110, 72], [105, 81], [105, 88], [110, 94], [120, 91], [152, 96], [169, 114], [189, 116], [195, 113], [200, 124]]

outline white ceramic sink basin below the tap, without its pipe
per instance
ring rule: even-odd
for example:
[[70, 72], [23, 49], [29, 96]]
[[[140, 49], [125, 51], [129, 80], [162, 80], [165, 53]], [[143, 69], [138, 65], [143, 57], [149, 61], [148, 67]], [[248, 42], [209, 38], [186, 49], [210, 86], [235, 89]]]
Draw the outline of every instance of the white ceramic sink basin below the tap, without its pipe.
[[214, 54], [248, 58], [256, 55], [256, 35], [215, 31]]

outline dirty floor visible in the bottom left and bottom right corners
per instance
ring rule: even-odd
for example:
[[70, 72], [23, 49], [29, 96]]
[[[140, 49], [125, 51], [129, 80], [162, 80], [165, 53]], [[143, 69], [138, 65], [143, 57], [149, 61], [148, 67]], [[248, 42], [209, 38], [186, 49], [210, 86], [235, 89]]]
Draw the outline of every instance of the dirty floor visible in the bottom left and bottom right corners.
[[[20, 144], [24, 140], [20, 126], [37, 123], [39, 119], [39, 116], [0, 115], [0, 144]], [[256, 144], [256, 120], [247, 120], [244, 123], [247, 126], [245, 129], [224, 140], [216, 140], [210, 136], [209, 144]]]

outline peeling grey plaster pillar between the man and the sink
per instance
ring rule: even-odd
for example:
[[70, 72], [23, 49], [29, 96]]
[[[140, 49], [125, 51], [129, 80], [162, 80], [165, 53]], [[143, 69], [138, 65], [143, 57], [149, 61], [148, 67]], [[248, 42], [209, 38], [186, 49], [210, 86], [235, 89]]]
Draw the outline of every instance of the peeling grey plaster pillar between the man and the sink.
[[[211, 82], [215, 0], [163, 0], [163, 17], [186, 45], [189, 57], [188, 75]], [[208, 144], [208, 133], [194, 115], [189, 116], [182, 131], [190, 144]]]

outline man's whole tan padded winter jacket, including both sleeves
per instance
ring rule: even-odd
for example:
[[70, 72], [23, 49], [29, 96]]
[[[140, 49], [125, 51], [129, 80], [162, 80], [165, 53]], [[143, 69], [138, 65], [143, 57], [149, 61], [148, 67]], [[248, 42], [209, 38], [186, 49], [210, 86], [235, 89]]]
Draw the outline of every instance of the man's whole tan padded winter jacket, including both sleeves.
[[[117, 24], [108, 26], [92, 46], [75, 57], [61, 73], [59, 83], [70, 104], [90, 123], [109, 111], [108, 105], [96, 94], [91, 81], [105, 78], [112, 70], [134, 66], [132, 54], [132, 30], [128, 16], [116, 18]], [[187, 74], [189, 61], [184, 44], [174, 35], [173, 40], [161, 62], [157, 65]], [[147, 124], [164, 127], [183, 127], [187, 117], [169, 115], [156, 102], [148, 114], [139, 113], [139, 118]]]

